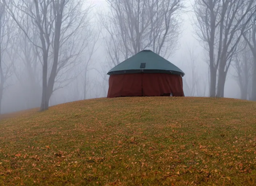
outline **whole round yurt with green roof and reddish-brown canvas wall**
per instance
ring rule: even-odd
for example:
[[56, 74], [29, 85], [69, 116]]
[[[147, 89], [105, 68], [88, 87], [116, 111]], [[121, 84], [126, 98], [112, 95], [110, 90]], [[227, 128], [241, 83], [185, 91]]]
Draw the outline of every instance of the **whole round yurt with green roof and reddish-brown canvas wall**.
[[151, 50], [142, 50], [107, 74], [110, 75], [108, 98], [184, 96], [184, 72]]

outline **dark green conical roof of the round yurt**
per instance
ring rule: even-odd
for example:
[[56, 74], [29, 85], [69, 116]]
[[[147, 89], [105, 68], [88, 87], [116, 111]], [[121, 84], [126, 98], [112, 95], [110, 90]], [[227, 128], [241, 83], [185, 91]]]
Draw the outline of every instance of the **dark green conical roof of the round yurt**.
[[109, 70], [107, 74], [125, 73], [167, 73], [180, 74], [181, 76], [185, 75], [185, 73], [177, 66], [151, 50], [142, 50], [116, 65], [114, 68]]

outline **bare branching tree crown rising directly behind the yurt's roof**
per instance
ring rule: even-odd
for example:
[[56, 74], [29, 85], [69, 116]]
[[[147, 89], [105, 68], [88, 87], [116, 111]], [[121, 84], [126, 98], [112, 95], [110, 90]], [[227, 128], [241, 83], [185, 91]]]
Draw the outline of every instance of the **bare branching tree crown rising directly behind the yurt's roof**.
[[177, 47], [179, 15], [184, 0], [107, 0], [108, 15], [101, 16], [106, 29], [108, 60], [113, 65], [151, 49], [168, 57]]

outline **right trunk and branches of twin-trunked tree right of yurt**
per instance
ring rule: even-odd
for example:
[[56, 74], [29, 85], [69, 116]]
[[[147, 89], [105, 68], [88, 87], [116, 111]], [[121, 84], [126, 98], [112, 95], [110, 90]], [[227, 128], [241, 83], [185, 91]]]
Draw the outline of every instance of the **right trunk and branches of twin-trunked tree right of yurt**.
[[219, 77], [217, 97], [224, 97], [224, 86], [232, 57], [239, 52], [237, 44], [252, 16], [256, 13], [255, 0], [226, 0], [221, 8], [219, 51]]

